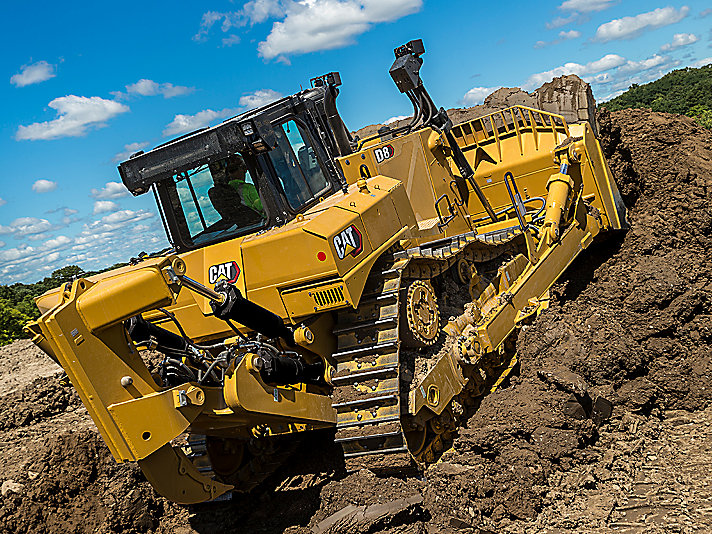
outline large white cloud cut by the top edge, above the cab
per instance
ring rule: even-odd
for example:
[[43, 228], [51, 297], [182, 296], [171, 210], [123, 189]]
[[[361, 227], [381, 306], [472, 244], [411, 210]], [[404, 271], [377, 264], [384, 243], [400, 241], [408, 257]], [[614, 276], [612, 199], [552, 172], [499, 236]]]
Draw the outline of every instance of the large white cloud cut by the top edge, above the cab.
[[419, 11], [422, 5], [422, 0], [288, 2], [284, 7], [284, 19], [273, 24], [257, 49], [265, 59], [286, 61], [289, 55], [341, 48], [352, 44], [357, 35], [368, 31], [373, 24], [410, 15]]

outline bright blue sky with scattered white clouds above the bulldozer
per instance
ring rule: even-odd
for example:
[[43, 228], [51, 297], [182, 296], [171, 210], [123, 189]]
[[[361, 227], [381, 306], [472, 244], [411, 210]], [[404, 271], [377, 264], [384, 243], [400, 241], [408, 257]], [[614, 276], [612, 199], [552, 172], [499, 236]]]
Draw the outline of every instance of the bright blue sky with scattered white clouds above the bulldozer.
[[132, 151], [332, 70], [349, 128], [407, 115], [388, 68], [410, 39], [424, 40], [421, 73], [446, 108], [568, 73], [601, 101], [712, 62], [708, 0], [4, 2], [0, 13], [3, 284], [167, 246], [152, 196], [120, 184]]

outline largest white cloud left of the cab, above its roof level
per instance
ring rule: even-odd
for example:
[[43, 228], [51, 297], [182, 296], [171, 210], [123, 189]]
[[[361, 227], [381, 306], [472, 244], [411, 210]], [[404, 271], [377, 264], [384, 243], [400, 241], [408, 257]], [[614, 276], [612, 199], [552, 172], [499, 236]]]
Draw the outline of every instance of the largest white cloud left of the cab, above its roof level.
[[18, 140], [58, 139], [84, 135], [89, 128], [106, 126], [106, 121], [129, 111], [129, 107], [98, 96], [67, 95], [55, 98], [49, 107], [57, 111], [56, 119], [35, 122], [17, 129]]

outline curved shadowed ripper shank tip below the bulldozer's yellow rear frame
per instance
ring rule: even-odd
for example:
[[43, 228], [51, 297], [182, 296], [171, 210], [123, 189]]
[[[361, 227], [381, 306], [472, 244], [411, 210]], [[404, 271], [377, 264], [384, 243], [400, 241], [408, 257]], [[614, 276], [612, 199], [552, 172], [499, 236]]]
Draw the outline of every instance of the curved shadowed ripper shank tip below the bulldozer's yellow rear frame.
[[202, 475], [183, 451], [169, 443], [138, 465], [158, 493], [178, 504], [211, 501], [233, 489]]

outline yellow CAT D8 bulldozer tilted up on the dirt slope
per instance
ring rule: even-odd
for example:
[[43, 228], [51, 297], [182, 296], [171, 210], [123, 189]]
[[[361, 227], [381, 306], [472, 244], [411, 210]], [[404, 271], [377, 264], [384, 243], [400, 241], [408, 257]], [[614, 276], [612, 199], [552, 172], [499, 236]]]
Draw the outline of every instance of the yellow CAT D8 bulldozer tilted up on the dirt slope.
[[133, 155], [123, 183], [153, 193], [172, 249], [37, 299], [33, 340], [165, 497], [248, 491], [315, 429], [349, 462], [436, 461], [551, 285], [626, 227], [588, 123], [514, 106], [453, 125], [424, 52], [395, 49], [404, 126], [355, 138], [332, 72]]

